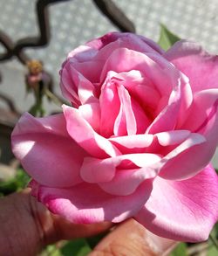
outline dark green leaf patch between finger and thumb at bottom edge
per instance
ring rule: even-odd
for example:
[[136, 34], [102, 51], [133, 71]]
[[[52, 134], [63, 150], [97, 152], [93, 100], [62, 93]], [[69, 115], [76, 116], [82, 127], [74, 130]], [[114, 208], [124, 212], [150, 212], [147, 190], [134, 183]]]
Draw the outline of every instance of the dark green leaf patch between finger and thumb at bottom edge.
[[63, 256], [86, 256], [88, 253], [91, 253], [92, 250], [85, 239], [75, 239], [67, 242], [67, 244], [60, 249], [60, 252]]

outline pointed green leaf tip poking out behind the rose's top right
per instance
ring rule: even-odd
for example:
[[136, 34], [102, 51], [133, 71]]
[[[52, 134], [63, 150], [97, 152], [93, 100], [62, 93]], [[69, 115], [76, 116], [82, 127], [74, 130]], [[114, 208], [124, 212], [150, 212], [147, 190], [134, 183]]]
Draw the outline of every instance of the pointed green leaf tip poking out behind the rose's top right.
[[160, 38], [158, 44], [162, 49], [167, 51], [175, 42], [180, 41], [181, 38], [176, 36], [173, 32], [167, 30], [164, 24], [160, 24]]

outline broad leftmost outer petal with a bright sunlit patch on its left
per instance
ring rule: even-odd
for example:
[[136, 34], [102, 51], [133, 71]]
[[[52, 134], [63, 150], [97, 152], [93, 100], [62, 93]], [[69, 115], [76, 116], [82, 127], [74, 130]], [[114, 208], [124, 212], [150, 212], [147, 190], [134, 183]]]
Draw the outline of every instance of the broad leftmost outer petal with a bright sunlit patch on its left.
[[86, 153], [67, 134], [63, 114], [44, 118], [23, 114], [11, 141], [13, 153], [38, 183], [69, 187], [81, 181], [79, 170]]

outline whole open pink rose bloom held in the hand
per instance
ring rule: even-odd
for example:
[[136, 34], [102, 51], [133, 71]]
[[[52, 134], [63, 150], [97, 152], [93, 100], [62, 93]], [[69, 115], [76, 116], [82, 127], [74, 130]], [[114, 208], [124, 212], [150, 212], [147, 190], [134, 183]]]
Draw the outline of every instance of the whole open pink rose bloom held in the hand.
[[164, 52], [109, 33], [70, 52], [60, 71], [72, 107], [24, 114], [12, 148], [32, 195], [74, 223], [133, 217], [149, 231], [208, 239], [218, 217], [218, 58], [180, 41]]

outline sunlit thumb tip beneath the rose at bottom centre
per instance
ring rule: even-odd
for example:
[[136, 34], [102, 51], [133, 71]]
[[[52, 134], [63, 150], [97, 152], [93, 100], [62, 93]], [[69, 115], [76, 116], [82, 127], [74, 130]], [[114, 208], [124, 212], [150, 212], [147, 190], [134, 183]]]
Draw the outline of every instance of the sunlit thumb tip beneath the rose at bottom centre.
[[160, 256], [167, 255], [175, 245], [173, 240], [162, 239], [147, 232], [131, 218], [101, 240], [89, 256]]

